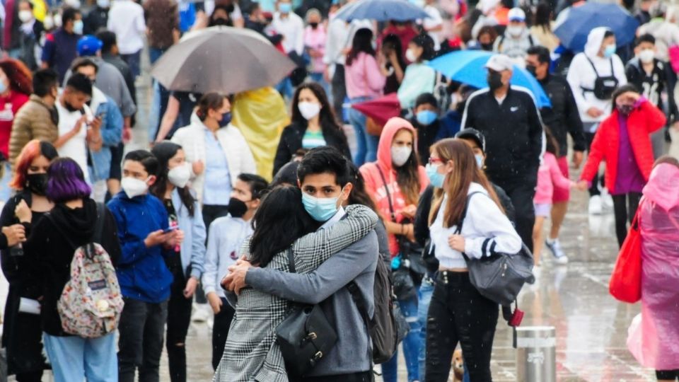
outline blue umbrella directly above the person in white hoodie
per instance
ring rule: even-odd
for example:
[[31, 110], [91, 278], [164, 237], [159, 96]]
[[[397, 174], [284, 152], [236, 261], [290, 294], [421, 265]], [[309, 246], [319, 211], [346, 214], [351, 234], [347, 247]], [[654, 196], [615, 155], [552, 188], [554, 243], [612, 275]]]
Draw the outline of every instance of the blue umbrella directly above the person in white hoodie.
[[617, 4], [587, 2], [570, 8], [568, 16], [557, 26], [554, 33], [562, 45], [573, 52], [585, 49], [587, 35], [597, 27], [607, 27], [615, 33], [618, 46], [634, 41], [639, 21]]

